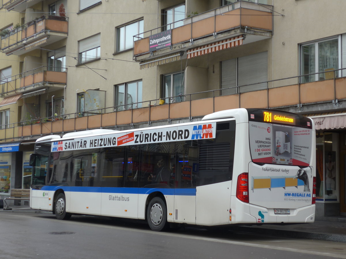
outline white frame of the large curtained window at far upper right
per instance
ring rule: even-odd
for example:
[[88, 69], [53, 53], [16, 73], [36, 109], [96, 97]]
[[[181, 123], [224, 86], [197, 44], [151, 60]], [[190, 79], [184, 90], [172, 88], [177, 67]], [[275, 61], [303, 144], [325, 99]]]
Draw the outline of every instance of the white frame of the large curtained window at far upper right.
[[[324, 38], [324, 39], [318, 39], [318, 40], [313, 40], [313, 41], [309, 41], [309, 42], [305, 42], [300, 44], [299, 46], [299, 74], [300, 74], [300, 82], [301, 83], [309, 83], [309, 82], [315, 82], [315, 81], [319, 81], [319, 80], [326, 80], [326, 78], [321, 78], [321, 74], [326, 73], [326, 71], [319, 71], [319, 43], [321, 42], [325, 42], [325, 41], [330, 41], [330, 40], [335, 40], [337, 39], [338, 42], [338, 67], [335, 69], [340, 69], [342, 68], [342, 49], [341, 49], [341, 45], [342, 45], [342, 41], [341, 41], [342, 35], [337, 35], [334, 37], [328, 37], [328, 38]], [[315, 75], [310, 75], [310, 76], [302, 76], [305, 75], [304, 74], [304, 51], [303, 51], [303, 47], [304, 46], [308, 46], [308, 45], [314, 45], [315, 47], [315, 59], [314, 59], [314, 65], [315, 65]], [[308, 73], [310, 74], [310, 73]], [[341, 70], [337, 71], [335, 77], [341, 77]], [[308, 78], [307, 78], [308, 77]], [[313, 79], [313, 77], [315, 77], [315, 79]], [[307, 79], [306, 79], [307, 78]]]

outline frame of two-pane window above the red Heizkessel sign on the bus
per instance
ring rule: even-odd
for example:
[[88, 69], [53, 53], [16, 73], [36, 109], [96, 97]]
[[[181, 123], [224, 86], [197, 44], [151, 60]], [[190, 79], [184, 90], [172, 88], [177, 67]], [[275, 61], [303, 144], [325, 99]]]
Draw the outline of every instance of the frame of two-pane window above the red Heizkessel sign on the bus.
[[[133, 102], [132, 99], [132, 103], [128, 103], [127, 99], [125, 98], [125, 96], [127, 96], [128, 94], [128, 85], [130, 84], [136, 84], [136, 98], [135, 98], [135, 102]], [[140, 83], [140, 86], [138, 86], [138, 84]], [[123, 104], [118, 104], [119, 101], [119, 87], [124, 87], [124, 93], [123, 94], [123, 98], [122, 98], [122, 102]], [[139, 89], [140, 88], [140, 89]], [[140, 93], [140, 100], [139, 100], [139, 93]], [[143, 106], [143, 80], [136, 80], [136, 81], [131, 81], [131, 82], [127, 82], [127, 83], [123, 83], [123, 84], [118, 84], [115, 85], [115, 101], [114, 101], [114, 105], [116, 106], [116, 110], [117, 111], [125, 111], [125, 110], [130, 110], [130, 109], [136, 109], [136, 108], [141, 108]], [[134, 103], [136, 103], [135, 105], [133, 105]]]

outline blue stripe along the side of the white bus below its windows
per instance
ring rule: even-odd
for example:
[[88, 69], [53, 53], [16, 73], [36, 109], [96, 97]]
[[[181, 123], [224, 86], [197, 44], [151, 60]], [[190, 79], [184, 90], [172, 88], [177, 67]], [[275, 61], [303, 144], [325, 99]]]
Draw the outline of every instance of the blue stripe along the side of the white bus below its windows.
[[65, 192], [95, 192], [95, 193], [124, 193], [124, 194], [150, 194], [162, 192], [164, 195], [196, 195], [196, 188], [126, 188], [126, 187], [82, 187], [82, 186], [42, 186], [42, 191], [56, 191], [62, 189]]

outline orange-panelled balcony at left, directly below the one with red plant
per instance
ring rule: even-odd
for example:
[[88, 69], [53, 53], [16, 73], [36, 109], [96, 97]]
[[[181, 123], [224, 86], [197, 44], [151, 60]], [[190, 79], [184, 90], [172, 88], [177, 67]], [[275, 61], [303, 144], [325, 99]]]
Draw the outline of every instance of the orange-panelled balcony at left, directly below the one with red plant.
[[66, 68], [42, 66], [12, 76], [8, 82], [1, 84], [0, 97], [6, 98], [14, 94], [23, 94], [25, 97], [43, 94], [45, 91], [50, 92], [64, 87], [66, 82]]

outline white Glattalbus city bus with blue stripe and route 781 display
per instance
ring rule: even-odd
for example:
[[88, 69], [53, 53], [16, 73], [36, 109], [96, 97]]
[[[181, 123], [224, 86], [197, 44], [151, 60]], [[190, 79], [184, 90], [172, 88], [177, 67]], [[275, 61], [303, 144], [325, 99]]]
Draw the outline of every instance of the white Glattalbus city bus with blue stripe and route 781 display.
[[200, 122], [89, 130], [36, 141], [30, 207], [204, 226], [313, 222], [310, 118], [231, 109]]

